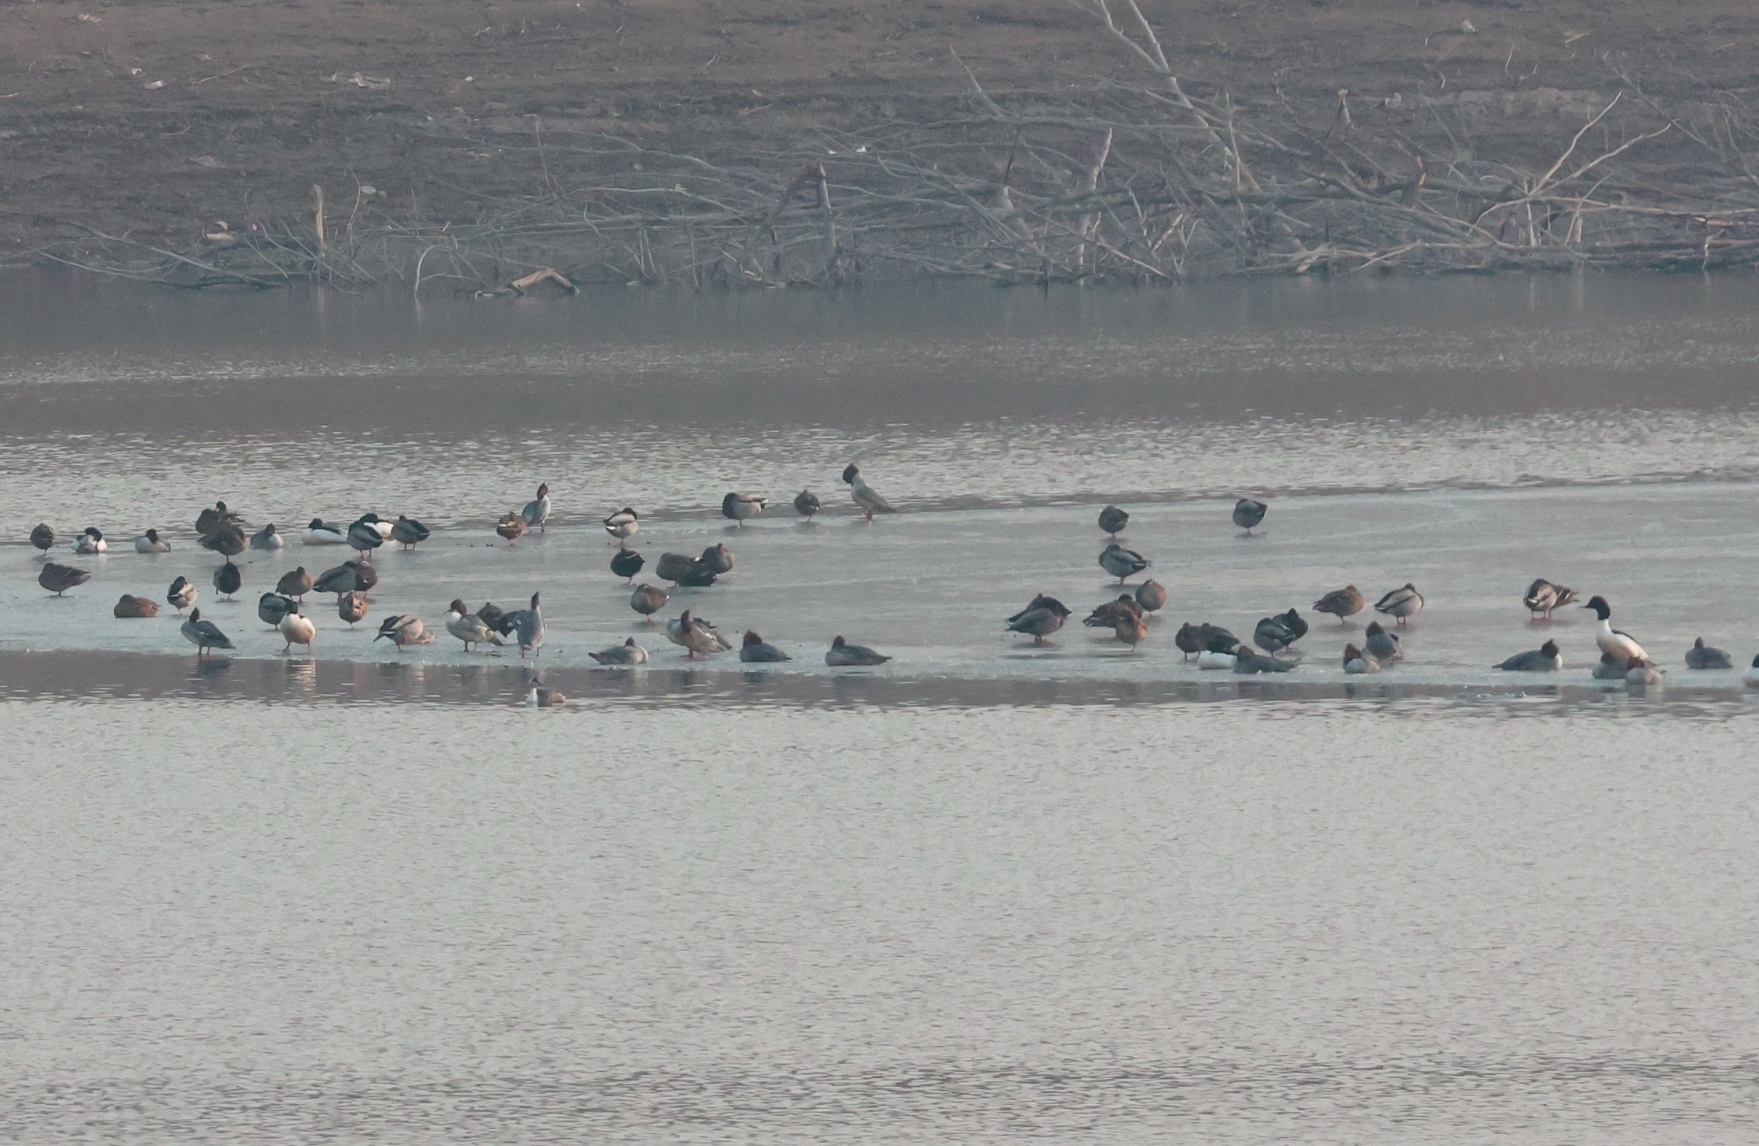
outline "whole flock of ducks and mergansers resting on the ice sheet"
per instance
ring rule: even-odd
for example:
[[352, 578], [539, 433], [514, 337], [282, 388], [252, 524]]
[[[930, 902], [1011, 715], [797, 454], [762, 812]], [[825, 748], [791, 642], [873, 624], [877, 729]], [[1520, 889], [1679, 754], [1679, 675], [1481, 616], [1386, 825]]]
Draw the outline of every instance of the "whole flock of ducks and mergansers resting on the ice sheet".
[[[869, 522], [876, 513], [895, 513], [885, 497], [874, 492], [872, 487], [862, 480], [860, 471], [853, 464], [843, 471], [843, 482], [850, 487], [850, 496], [855, 501], [855, 506]], [[721, 501], [721, 515], [744, 527], [744, 522], [760, 517], [767, 504], [769, 499], [758, 494], [728, 492]], [[821, 508], [823, 506], [818, 496], [809, 489], [800, 490], [800, 494], [793, 499], [795, 513], [804, 519], [811, 519]], [[1263, 501], [1244, 497], [1233, 508], [1233, 522], [1251, 534], [1252, 529], [1265, 520], [1266, 511], [1268, 506]], [[551, 513], [552, 503], [549, 485], [538, 485], [536, 497], [522, 510], [501, 515], [496, 520], [494, 529], [496, 534], [508, 541], [508, 545], [514, 545], [528, 531], [547, 531]], [[1129, 526], [1128, 511], [1119, 506], [1105, 506], [1099, 513], [1098, 524], [1103, 533], [1110, 534], [1110, 541], [1099, 552], [1099, 566], [1108, 575], [1117, 578], [1119, 587], [1124, 587], [1129, 578], [1147, 571], [1154, 564], [1149, 557], [1119, 541], [1119, 536]], [[610, 569], [616, 577], [624, 578], [631, 585], [630, 608], [640, 617], [653, 620], [654, 613], [667, 606], [670, 594], [651, 584], [635, 585], [635, 577], [647, 564], [639, 552], [628, 547], [630, 538], [640, 531], [640, 515], [633, 508], [624, 506], [623, 510], [617, 510], [603, 519], [603, 529], [614, 541], [617, 541], [617, 548], [610, 559]], [[273, 552], [287, 545], [287, 540], [273, 524], [264, 526], [257, 533], [246, 534], [243, 519], [230, 511], [223, 501], [201, 511], [195, 520], [195, 531], [204, 548], [213, 550], [225, 559], [223, 564], [215, 569], [213, 585], [216, 592], [229, 599], [243, 585], [241, 571], [232, 562], [234, 555], [245, 552], [246, 548]], [[373, 552], [387, 541], [399, 543], [405, 550], [408, 550], [420, 545], [427, 538], [429, 529], [422, 522], [410, 517], [385, 520], [376, 513], [362, 513], [348, 526], [313, 519], [299, 534], [299, 541], [303, 545], [347, 545], [355, 550], [355, 557], [343, 561], [334, 568], [324, 569], [315, 577], [310, 575], [304, 566], [285, 573], [276, 582], [273, 592], [264, 592], [259, 598], [257, 615], [271, 629], [280, 633], [283, 638], [283, 654], [292, 652], [294, 645], [301, 645], [306, 652], [310, 652], [311, 642], [317, 635], [317, 626], [303, 612], [304, 598], [308, 594], [334, 594], [338, 615], [347, 620], [350, 627], [354, 627], [368, 615], [371, 608], [369, 592], [378, 584], [378, 573], [373, 566]], [[56, 547], [58, 538], [51, 526], [42, 524], [32, 531], [30, 541], [44, 552], [44, 557], [47, 557], [49, 550]], [[107, 548], [109, 543], [97, 527], [86, 527], [72, 540], [72, 550], [81, 555], [104, 554]], [[144, 534], [135, 538], [134, 548], [139, 554], [171, 552], [171, 545], [160, 538], [157, 529], [148, 529]], [[670, 582], [674, 587], [702, 587], [712, 585], [716, 578], [725, 577], [732, 571], [732, 568], [734, 554], [725, 543], [721, 543], [711, 545], [697, 557], [688, 554], [661, 554], [654, 564], [654, 575], [658, 580]], [[90, 578], [91, 573], [86, 569], [47, 561], [37, 580], [49, 592], [63, 594]], [[179, 615], [188, 610], [188, 615], [181, 624], [181, 633], [190, 643], [195, 645], [197, 657], [206, 657], [213, 649], [236, 649], [232, 638], [213, 624], [213, 620], [202, 617], [201, 610], [195, 608], [197, 598], [199, 589], [185, 577], [178, 577], [167, 591], [167, 603], [176, 608]], [[1166, 606], [1166, 589], [1159, 582], [1149, 578], [1138, 584], [1135, 592], [1120, 592], [1115, 599], [1098, 605], [1082, 624], [1096, 629], [1110, 629], [1119, 642], [1135, 652], [1138, 645], [1149, 640], [1150, 619]], [[1580, 594], [1574, 589], [1544, 578], [1532, 582], [1522, 598], [1522, 605], [1527, 608], [1532, 620], [1550, 620], [1555, 610], [1576, 605], [1578, 601]], [[1374, 601], [1372, 608], [1376, 613], [1388, 619], [1393, 631], [1388, 631], [1388, 627], [1379, 620], [1370, 622], [1365, 627], [1360, 643], [1353, 640], [1344, 645], [1344, 673], [1379, 673], [1383, 668], [1390, 668], [1404, 661], [1405, 650], [1398, 629], [1407, 627], [1411, 619], [1416, 617], [1423, 606], [1423, 594], [1414, 584], [1405, 584], [1381, 594]], [[1333, 589], [1312, 603], [1312, 612], [1335, 617], [1340, 626], [1346, 626], [1349, 619], [1363, 608], [1369, 608], [1369, 599], [1356, 585]], [[1587, 601], [1587, 605], [1581, 605], [1581, 608], [1592, 610], [1599, 619], [1595, 645], [1599, 647], [1601, 659], [1592, 668], [1594, 678], [1622, 680], [1631, 685], [1655, 685], [1662, 682], [1662, 670], [1643, 649], [1643, 645], [1638, 643], [1638, 640], [1629, 633], [1611, 626], [1611, 606], [1606, 598], [1594, 596]], [[114, 615], [155, 617], [158, 610], [160, 605], [157, 601], [135, 594], [123, 594], [114, 606]], [[1062, 601], [1052, 596], [1038, 594], [1025, 605], [1025, 608], [1008, 617], [1004, 627], [1008, 633], [1031, 636], [1033, 643], [1043, 645], [1047, 638], [1057, 633], [1071, 615], [1073, 610], [1069, 610]], [[522, 657], [535, 657], [540, 654], [545, 636], [544, 608], [540, 594], [536, 592], [531, 594], [526, 608], [512, 612], [503, 612], [493, 603], [471, 612], [463, 599], [452, 599], [447, 606], [443, 626], [449, 635], [463, 642], [466, 652], [484, 645], [498, 647], [514, 643]], [[728, 642], [714, 627], [714, 624], [695, 615], [690, 608], [668, 620], [663, 631], [667, 640], [682, 647], [686, 657], [691, 659], [734, 650], [734, 643]], [[1252, 629], [1251, 643], [1240, 640], [1223, 626], [1186, 622], [1173, 635], [1173, 645], [1186, 656], [1186, 659], [1194, 656], [1200, 670], [1288, 673], [1300, 666], [1302, 661], [1298, 659], [1300, 654], [1295, 650], [1295, 645], [1307, 635], [1307, 619], [1300, 615], [1298, 608], [1289, 608], [1288, 612], [1263, 617]], [[431, 643], [434, 640], [434, 633], [427, 629], [420, 617], [413, 613], [398, 613], [385, 617], [380, 622], [378, 633], [373, 640], [389, 640], [401, 650], [410, 645]], [[1252, 645], [1256, 645], [1256, 649]], [[649, 659], [647, 650], [642, 649], [633, 636], [621, 645], [612, 645], [610, 649], [603, 649], [589, 656], [600, 664], [617, 666], [644, 664]], [[763, 664], [788, 661], [792, 657], [776, 645], [765, 642], [756, 631], [746, 631], [744, 640], [739, 645], [739, 659], [744, 663]], [[837, 636], [825, 652], [825, 663], [830, 666], [871, 666], [883, 664], [887, 661], [890, 661], [888, 656], [874, 652], [864, 645], [853, 645], [843, 636]], [[1703, 638], [1697, 638], [1694, 647], [1685, 654], [1685, 664], [1690, 670], [1727, 670], [1733, 668], [1733, 659], [1727, 652], [1713, 649], [1706, 645]], [[1557, 642], [1546, 640], [1539, 649], [1518, 652], [1493, 668], [1513, 673], [1555, 673], [1564, 668], [1564, 657]], [[1754, 657], [1752, 668], [1745, 671], [1743, 680], [1748, 687], [1759, 687], [1759, 656]], [[559, 694], [551, 694], [547, 689], [538, 689], [533, 696], [536, 698], [536, 703], [552, 703], [561, 700]]]

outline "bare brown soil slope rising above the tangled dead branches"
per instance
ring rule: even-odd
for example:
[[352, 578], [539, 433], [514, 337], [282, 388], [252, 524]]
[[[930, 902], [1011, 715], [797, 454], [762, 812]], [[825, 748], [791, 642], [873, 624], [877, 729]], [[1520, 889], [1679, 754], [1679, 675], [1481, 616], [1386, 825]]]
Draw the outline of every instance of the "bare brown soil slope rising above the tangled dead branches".
[[[1655, 162], [1689, 158], [1759, 69], [1750, 0], [1145, 9], [1196, 93], [1323, 125], [1349, 90], [1358, 121], [1511, 162], [1557, 155], [1620, 72], [1653, 100], [1627, 100], [1631, 114], [1683, 116], [1706, 141], [1669, 134], [1645, 144]], [[5, 4], [0, 255], [81, 228], [186, 248], [216, 220], [304, 214], [313, 183], [343, 207], [364, 183], [382, 209], [464, 218], [630, 165], [566, 146], [501, 153], [484, 137], [605, 132], [765, 153], [911, 116], [969, 86], [959, 60], [997, 90], [1143, 76], [1073, 0]], [[1618, 116], [1606, 130], [1620, 137]]]

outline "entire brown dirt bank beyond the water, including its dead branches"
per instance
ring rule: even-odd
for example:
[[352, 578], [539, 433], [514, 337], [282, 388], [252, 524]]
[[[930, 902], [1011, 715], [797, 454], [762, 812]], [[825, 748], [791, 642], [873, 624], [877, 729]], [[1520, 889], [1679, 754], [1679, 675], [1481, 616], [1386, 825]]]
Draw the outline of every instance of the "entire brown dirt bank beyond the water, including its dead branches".
[[9, 4], [0, 253], [447, 288], [1754, 260], [1750, 4], [1147, 4], [1179, 88], [1112, 11], [1149, 58], [1075, 0]]

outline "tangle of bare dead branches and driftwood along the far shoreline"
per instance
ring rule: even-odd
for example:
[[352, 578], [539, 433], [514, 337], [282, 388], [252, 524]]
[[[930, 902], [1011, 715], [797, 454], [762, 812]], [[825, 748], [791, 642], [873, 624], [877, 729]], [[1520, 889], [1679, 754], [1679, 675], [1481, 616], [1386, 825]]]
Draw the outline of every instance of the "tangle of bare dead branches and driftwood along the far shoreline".
[[[633, 137], [449, 132], [459, 144], [586, 156], [591, 185], [545, 176], [473, 220], [394, 214], [357, 193], [306, 220], [211, 234], [202, 250], [91, 234], [42, 257], [178, 285], [318, 279], [424, 290], [522, 290], [558, 267], [579, 283], [836, 285], [974, 278], [1006, 285], [1173, 283], [1215, 274], [1372, 269], [1710, 269], [1759, 260], [1759, 125], [1724, 98], [1701, 132], [1629, 81], [1558, 139], [1546, 167], [1425, 155], [1372, 132], [1340, 91], [1326, 123], [1198, 98], [1135, 0], [1075, 0], [1140, 65], [1140, 83], [1062, 91], [985, 86], [939, 114], [709, 160]], [[964, 69], [957, 56], [953, 67]], [[1620, 125], [1620, 134], [1611, 125]], [[431, 128], [443, 130], [443, 128]], [[1701, 144], [1689, 179], [1638, 165], [1645, 144]], [[341, 202], [347, 202], [343, 199]], [[213, 241], [218, 239], [218, 241]], [[524, 276], [524, 278], [522, 278]], [[538, 276], [545, 278], [545, 276]], [[514, 279], [510, 283], [510, 279]]]

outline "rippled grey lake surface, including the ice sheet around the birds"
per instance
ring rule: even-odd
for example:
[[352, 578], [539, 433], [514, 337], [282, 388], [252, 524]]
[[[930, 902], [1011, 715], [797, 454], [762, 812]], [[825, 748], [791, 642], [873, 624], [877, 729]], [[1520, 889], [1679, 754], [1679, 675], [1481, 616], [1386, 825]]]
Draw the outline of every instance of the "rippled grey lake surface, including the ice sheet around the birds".
[[[1759, 649], [1752, 299], [0, 278], [0, 1137], [1748, 1142], [1759, 701], [1682, 657]], [[860, 520], [851, 459], [902, 513]], [[540, 480], [549, 531], [501, 543]], [[734, 529], [730, 489], [770, 511]], [[283, 659], [255, 596], [347, 554], [246, 554], [215, 601], [216, 497], [436, 529]], [[1170, 591], [1149, 642], [1003, 635], [1033, 592], [1117, 592], [1105, 501]], [[795, 661], [639, 624], [623, 504], [649, 562], [737, 555], [661, 617]], [[39, 520], [95, 573], [63, 599]], [[74, 557], [86, 524], [118, 548]], [[237, 654], [109, 615], [179, 573]], [[1594, 682], [1588, 613], [1520, 606], [1541, 575], [1668, 684]], [[1407, 580], [1374, 678], [1339, 670], [1363, 615], [1310, 615], [1275, 680], [1170, 640]], [[371, 642], [533, 591], [563, 710], [517, 656]], [[830, 671], [837, 633], [894, 661]], [[630, 635], [646, 670], [586, 656]], [[1546, 636], [1562, 673], [1488, 668]]]

